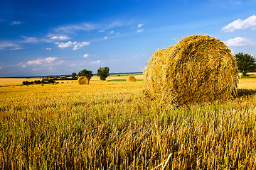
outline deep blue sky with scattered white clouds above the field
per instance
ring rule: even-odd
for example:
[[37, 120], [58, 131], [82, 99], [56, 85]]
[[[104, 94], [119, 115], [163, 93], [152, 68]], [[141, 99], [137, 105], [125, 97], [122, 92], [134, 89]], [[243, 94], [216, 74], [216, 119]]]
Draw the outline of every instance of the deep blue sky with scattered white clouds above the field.
[[195, 34], [256, 57], [256, 0], [3, 0], [0, 77], [141, 72]]

